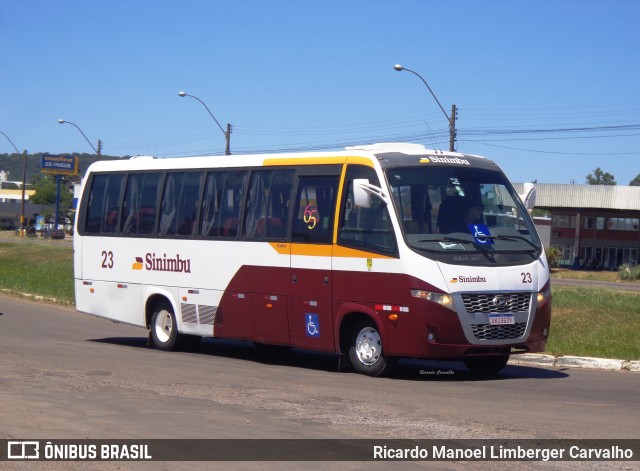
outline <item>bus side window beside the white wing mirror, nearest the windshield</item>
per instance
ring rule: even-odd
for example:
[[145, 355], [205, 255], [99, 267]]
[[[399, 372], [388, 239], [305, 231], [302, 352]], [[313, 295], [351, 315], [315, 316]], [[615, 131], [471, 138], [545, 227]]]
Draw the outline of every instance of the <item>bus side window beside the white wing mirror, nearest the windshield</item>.
[[362, 165], [350, 165], [347, 168], [338, 227], [338, 243], [360, 250], [397, 256], [398, 246], [389, 208], [382, 200], [375, 197], [371, 198], [371, 207], [357, 207], [353, 195], [353, 180], [357, 178], [366, 178], [372, 185], [380, 186], [372, 168]]

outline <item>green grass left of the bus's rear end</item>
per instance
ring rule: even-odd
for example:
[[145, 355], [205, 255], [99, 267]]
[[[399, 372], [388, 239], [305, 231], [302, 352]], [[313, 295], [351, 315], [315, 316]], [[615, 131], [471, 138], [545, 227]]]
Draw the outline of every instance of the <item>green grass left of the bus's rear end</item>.
[[0, 243], [0, 288], [73, 302], [73, 248], [37, 240]]

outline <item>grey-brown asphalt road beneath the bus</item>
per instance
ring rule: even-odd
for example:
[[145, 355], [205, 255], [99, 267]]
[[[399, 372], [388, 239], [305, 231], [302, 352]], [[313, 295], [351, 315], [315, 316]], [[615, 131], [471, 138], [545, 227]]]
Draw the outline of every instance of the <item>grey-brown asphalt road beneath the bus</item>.
[[[336, 372], [332, 355], [265, 356], [243, 342], [208, 340], [194, 352], [161, 352], [147, 347], [140, 328], [4, 295], [0, 313], [0, 438], [640, 438], [637, 373], [510, 365], [481, 380], [461, 364], [414, 360], [401, 362], [391, 378], [369, 378]], [[300, 468], [286, 462], [28, 464], [47, 470]], [[469, 463], [398, 465], [468, 469]], [[510, 469], [498, 462], [480, 467]], [[2, 468], [27, 469], [20, 463]]]

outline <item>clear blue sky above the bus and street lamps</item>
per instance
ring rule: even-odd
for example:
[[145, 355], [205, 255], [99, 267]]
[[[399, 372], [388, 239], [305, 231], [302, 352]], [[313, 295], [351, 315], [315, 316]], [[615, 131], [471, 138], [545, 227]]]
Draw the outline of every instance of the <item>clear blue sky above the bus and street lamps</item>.
[[[0, 131], [31, 153], [339, 149], [407, 141], [517, 182], [640, 174], [633, 0], [0, 0]], [[0, 136], [0, 153], [13, 148]], [[223, 157], [221, 157], [223, 158]]]

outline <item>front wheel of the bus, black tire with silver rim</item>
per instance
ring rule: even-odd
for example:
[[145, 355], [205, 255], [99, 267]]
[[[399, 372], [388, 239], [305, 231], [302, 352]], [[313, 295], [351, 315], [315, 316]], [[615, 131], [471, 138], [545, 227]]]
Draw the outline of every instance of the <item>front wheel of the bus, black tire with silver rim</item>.
[[357, 373], [367, 376], [380, 376], [390, 365], [380, 332], [372, 320], [361, 320], [354, 325], [349, 340], [349, 361]]

